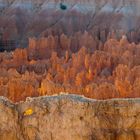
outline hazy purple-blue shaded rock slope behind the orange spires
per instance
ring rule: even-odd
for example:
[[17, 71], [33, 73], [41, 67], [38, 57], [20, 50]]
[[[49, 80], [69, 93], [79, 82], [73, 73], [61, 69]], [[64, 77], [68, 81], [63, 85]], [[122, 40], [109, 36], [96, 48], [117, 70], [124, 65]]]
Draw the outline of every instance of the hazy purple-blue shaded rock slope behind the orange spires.
[[[110, 31], [139, 41], [139, 0], [0, 0], [0, 38], [26, 47], [28, 37], [91, 31], [104, 41]], [[2, 35], [2, 37], [1, 37]]]

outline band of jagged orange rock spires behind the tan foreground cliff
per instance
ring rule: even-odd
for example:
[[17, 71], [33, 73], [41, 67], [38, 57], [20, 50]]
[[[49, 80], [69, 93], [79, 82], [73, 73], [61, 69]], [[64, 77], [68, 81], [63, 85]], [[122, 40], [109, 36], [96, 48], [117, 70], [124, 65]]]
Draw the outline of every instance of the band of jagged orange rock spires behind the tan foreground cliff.
[[[59, 43], [58, 43], [59, 42]], [[0, 95], [26, 97], [68, 92], [94, 99], [140, 97], [140, 44], [99, 41], [78, 32], [30, 38], [29, 48], [0, 53]]]

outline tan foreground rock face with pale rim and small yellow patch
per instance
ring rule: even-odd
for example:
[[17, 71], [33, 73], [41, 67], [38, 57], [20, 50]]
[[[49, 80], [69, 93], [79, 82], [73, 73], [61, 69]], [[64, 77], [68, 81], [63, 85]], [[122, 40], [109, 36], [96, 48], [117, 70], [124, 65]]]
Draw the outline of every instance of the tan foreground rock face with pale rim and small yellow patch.
[[140, 99], [0, 98], [0, 140], [139, 140]]

